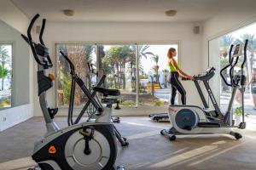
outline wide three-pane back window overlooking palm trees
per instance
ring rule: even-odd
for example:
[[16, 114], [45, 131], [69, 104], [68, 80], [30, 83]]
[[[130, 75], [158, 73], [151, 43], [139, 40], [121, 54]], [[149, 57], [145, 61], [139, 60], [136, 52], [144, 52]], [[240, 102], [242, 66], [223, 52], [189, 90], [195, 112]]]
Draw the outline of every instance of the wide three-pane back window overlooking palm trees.
[[[86, 85], [88, 82], [93, 82], [91, 85], [96, 84], [96, 76], [88, 76], [88, 62], [96, 66], [98, 77], [102, 77], [103, 74], [107, 75], [104, 85], [107, 88], [120, 90], [120, 105], [168, 105], [171, 90], [169, 83], [166, 82], [169, 74], [166, 54], [169, 48], [177, 49], [177, 45], [57, 44], [58, 105], [67, 107], [71, 86], [69, 68], [65, 59], [58, 53], [60, 49], [68, 54], [79, 77]], [[138, 84], [137, 79], [139, 79]], [[137, 85], [139, 90], [137, 90]], [[83, 92], [76, 88], [75, 93], [75, 105], [84, 105], [86, 98]]]

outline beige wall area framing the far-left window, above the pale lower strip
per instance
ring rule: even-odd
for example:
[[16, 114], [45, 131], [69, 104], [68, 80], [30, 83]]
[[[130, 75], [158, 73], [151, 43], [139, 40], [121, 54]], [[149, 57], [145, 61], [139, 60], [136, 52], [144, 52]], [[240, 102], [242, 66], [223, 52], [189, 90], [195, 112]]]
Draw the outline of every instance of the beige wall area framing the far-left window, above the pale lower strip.
[[26, 105], [29, 103], [29, 47], [21, 39], [20, 32], [6, 25], [0, 20], [0, 43], [13, 44], [13, 106]]

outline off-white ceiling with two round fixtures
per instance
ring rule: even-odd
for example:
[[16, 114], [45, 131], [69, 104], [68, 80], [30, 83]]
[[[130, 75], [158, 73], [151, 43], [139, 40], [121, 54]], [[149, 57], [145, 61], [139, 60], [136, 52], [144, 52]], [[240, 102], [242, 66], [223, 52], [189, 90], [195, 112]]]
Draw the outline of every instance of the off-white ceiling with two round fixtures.
[[[32, 17], [41, 14], [53, 21], [135, 21], [135, 22], [200, 22], [228, 10], [245, 0], [11, 0], [16, 7]], [[73, 9], [70, 17], [63, 9]], [[176, 9], [168, 17], [165, 11]]]

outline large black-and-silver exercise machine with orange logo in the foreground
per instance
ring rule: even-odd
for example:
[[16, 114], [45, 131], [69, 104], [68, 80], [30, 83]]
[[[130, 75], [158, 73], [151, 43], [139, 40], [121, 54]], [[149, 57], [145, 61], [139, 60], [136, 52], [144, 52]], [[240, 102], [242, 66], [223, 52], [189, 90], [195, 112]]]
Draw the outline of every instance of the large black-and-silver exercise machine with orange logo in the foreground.
[[[125, 167], [115, 167], [114, 162], [117, 156], [117, 146], [111, 115], [105, 112], [96, 100], [91, 96], [90, 91], [82, 86], [79, 77], [77, 83], [96, 107], [101, 116], [96, 122], [84, 122], [76, 125], [60, 128], [51, 118], [58, 111], [57, 108], [50, 109], [46, 101], [46, 92], [52, 88], [55, 77], [51, 74], [46, 76], [45, 71], [52, 67], [49, 57], [49, 48], [46, 48], [43, 41], [45, 21], [40, 31], [40, 43], [32, 40], [32, 26], [38, 19], [36, 14], [28, 29], [27, 37], [21, 35], [32, 49], [34, 59], [38, 64], [38, 96], [46, 124], [44, 138], [38, 140], [34, 145], [32, 159], [38, 163], [38, 167], [32, 169], [41, 170], [124, 170]], [[119, 90], [108, 90], [98, 88], [103, 94], [119, 94]], [[73, 91], [71, 95], [74, 95]], [[108, 106], [106, 108], [109, 109]]]

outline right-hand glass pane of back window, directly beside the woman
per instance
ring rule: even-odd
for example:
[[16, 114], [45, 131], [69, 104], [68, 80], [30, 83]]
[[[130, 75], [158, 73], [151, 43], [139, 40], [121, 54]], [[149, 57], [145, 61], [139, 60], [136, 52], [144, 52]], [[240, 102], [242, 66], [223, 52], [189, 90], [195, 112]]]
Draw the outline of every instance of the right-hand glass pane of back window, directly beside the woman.
[[[166, 106], [171, 96], [167, 52], [177, 45], [139, 45], [139, 105]], [[178, 50], [177, 50], [178, 51]], [[176, 60], [178, 60], [176, 58]]]

